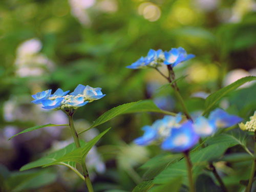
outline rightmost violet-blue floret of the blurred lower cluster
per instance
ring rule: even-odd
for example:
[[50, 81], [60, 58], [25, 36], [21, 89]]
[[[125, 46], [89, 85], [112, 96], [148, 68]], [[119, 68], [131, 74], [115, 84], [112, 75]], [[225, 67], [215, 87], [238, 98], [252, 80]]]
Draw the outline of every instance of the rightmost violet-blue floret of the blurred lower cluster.
[[212, 111], [208, 119], [214, 122], [215, 125], [219, 128], [230, 127], [243, 121], [242, 118], [236, 115], [229, 115], [227, 112], [221, 109]]

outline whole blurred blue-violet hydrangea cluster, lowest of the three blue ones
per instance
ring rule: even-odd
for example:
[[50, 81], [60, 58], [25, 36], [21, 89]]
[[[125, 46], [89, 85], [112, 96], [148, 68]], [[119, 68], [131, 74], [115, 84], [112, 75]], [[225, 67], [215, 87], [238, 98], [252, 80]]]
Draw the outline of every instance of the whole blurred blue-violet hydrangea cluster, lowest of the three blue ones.
[[[256, 116], [255, 116], [256, 117]], [[229, 115], [221, 109], [212, 111], [208, 118], [198, 117], [193, 123], [190, 120], [181, 122], [181, 114], [176, 117], [164, 116], [152, 126], [144, 126], [144, 135], [134, 140], [138, 145], [148, 145], [158, 140], [161, 148], [172, 152], [190, 150], [200, 137], [213, 135], [218, 128], [226, 128], [242, 121], [242, 118]]]

